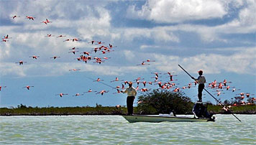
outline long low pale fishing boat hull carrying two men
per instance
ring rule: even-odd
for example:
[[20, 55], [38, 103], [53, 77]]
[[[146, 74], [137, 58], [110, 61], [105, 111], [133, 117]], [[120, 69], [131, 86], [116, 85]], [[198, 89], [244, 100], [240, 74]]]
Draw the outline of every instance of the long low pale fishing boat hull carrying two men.
[[123, 116], [129, 123], [135, 122], [152, 122], [159, 123], [163, 121], [168, 122], [207, 122], [215, 121], [215, 117], [212, 118], [195, 118], [195, 117], [186, 117], [186, 116], [170, 116], [166, 115], [132, 115], [132, 116]]

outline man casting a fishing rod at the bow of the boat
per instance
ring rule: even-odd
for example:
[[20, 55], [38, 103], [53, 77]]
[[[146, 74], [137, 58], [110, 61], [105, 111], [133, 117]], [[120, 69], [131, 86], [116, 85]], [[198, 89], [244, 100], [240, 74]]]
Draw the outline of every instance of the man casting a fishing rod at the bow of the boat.
[[135, 99], [135, 96], [137, 95], [137, 91], [135, 88], [132, 87], [132, 82], [129, 82], [129, 87], [126, 90], [122, 90], [122, 93], [127, 93], [127, 115], [133, 114], [133, 101]]

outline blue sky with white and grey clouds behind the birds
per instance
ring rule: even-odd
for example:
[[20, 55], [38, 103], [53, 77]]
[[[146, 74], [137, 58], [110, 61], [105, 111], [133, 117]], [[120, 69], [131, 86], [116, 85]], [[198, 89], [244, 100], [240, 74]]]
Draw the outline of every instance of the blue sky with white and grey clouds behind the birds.
[[[140, 77], [155, 84], [154, 72], [162, 83], [169, 82], [167, 72], [174, 72], [175, 86], [170, 90], [180, 88], [196, 101], [197, 85], [181, 89], [193, 80], [178, 65], [195, 78], [203, 70], [207, 83], [226, 79], [237, 89], [223, 89], [217, 96], [216, 89], [206, 88], [218, 99], [229, 100], [242, 92], [255, 96], [255, 9], [254, 0], [0, 1], [0, 35], [11, 37], [0, 43], [0, 107], [124, 106], [127, 95], [113, 89], [124, 81], [111, 80], [134, 82]], [[51, 23], [43, 23], [45, 19]], [[64, 42], [73, 38], [79, 41]], [[93, 40], [93, 45], [88, 43]], [[111, 52], [91, 52], [109, 44], [114, 46]], [[101, 64], [77, 61], [83, 51], [110, 58]], [[40, 57], [35, 60], [33, 55]], [[17, 63], [21, 60], [23, 65]], [[152, 62], [139, 65], [145, 60]], [[97, 78], [104, 81], [93, 81]], [[34, 87], [27, 90], [27, 85]], [[109, 92], [84, 93], [89, 89]], [[60, 93], [68, 95], [60, 98]], [[203, 93], [204, 101], [215, 103]]]

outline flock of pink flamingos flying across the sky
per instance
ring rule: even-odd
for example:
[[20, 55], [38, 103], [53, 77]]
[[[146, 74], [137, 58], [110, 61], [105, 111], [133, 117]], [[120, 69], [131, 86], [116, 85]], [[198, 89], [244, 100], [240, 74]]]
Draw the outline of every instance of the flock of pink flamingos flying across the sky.
[[[15, 15], [11, 18], [17, 19], [18, 17], [19, 16]], [[26, 16], [25, 18], [32, 20], [32, 21], [35, 20], [35, 17]], [[52, 22], [50, 22], [48, 19], [46, 19], [45, 21], [42, 21], [41, 23], [49, 24]], [[47, 34], [45, 37], [55, 37], [55, 36], [52, 34]], [[66, 37], [66, 36], [63, 34], [60, 34], [57, 36], [57, 38], [61, 38], [61, 37]], [[12, 39], [12, 37], [9, 37], [9, 35], [7, 34], [6, 36], [4, 36], [2, 38], [2, 42], [8, 42], [9, 39]], [[70, 38], [70, 39], [63, 40], [63, 42], [68, 42], [68, 41], [78, 42], [78, 41], [81, 41], [81, 39]], [[73, 54], [73, 55], [79, 54], [80, 55], [79, 57], [74, 58], [77, 61], [87, 63], [87, 62], [90, 62], [93, 60], [93, 63], [98, 63], [100, 65], [101, 63], [105, 62], [106, 60], [109, 60], [111, 57], [93, 57], [93, 56], [91, 56], [91, 54], [96, 55], [99, 52], [100, 53], [99, 55], [106, 55], [107, 53], [114, 52], [114, 48], [116, 47], [111, 44], [104, 45], [105, 42], [95, 41], [95, 40], [89, 41], [88, 44], [93, 46], [91, 51], [82, 51], [79, 53], [79, 51], [78, 51], [79, 48], [72, 47], [69, 49], [70, 51], [68, 53]], [[32, 55], [32, 56], [28, 56], [28, 57], [31, 57], [32, 59], [35, 59], [35, 60], [40, 58], [40, 56], [38, 56], [38, 55]], [[56, 60], [57, 58], [60, 58], [60, 56], [54, 55], [54, 56], [50, 57], [50, 59], [53, 59], [53, 60]], [[155, 62], [155, 60], [149, 60], [149, 59], [142, 60], [142, 62], [140, 64], [137, 64], [137, 66], [150, 65], [153, 62]], [[15, 62], [15, 63], [18, 63], [19, 65], [24, 65], [24, 63], [27, 63], [27, 61], [20, 60], [19, 62]], [[79, 71], [79, 70], [81, 70], [81, 69], [75, 68], [75, 69], [70, 69], [69, 71]], [[188, 83], [188, 85], [180, 85], [179, 83], [177, 83], [177, 79], [174, 79], [177, 76], [177, 75], [175, 75], [175, 72], [165, 72], [165, 73], [163, 73], [163, 75], [161, 72], [151, 72], [151, 74], [153, 76], [151, 77], [150, 80], [146, 80], [145, 78], [140, 78], [140, 77], [132, 80], [132, 82], [135, 85], [137, 84], [136, 90], [139, 93], [145, 93], [145, 92], [150, 91], [151, 89], [172, 90], [173, 92], [179, 92], [180, 90], [190, 89], [190, 88], [196, 87], [196, 85], [197, 85], [196, 82]], [[106, 80], [104, 81], [101, 78], [94, 79], [93, 82], [100, 82], [100, 83], [104, 82], [104, 85], [108, 85], [105, 83]], [[118, 77], [116, 77], [114, 80], [111, 80], [109, 83], [119, 83], [119, 85], [116, 85], [115, 87], [112, 87], [112, 85], [109, 85], [109, 87], [116, 90], [116, 92], [114, 92], [113, 94], [118, 94], [118, 93], [121, 93], [121, 90], [124, 90], [126, 88], [125, 85], [127, 85], [128, 82], [129, 82], [128, 80], [124, 80], [124, 79], [120, 80]], [[213, 82], [208, 83], [208, 84], [209, 85], [207, 85], [206, 88], [212, 89], [213, 92], [215, 92], [214, 95], [217, 95], [217, 96], [224, 94], [224, 91], [237, 92], [237, 90], [239, 90], [239, 89], [234, 88], [233, 86], [229, 85], [229, 84], [231, 84], [231, 82], [228, 82], [227, 80], [223, 80], [221, 82], [217, 82], [216, 80], [214, 80]], [[27, 86], [24, 86], [23, 88], [27, 88], [27, 90], [29, 90], [30, 88], [33, 88], [33, 87], [34, 86], [27, 85]], [[0, 86], [0, 91], [2, 88], [6, 88], [6, 86]], [[104, 93], [109, 93], [109, 90], [98, 90], [97, 91], [97, 90], [91, 90], [91, 88], [90, 88], [86, 92], [76, 93], [73, 96], [85, 95], [87, 93], [95, 93], [95, 94], [104, 95]], [[63, 95], [68, 95], [68, 93], [58, 93], [55, 95], [63, 97]], [[245, 97], [249, 98], [249, 97], [252, 97], [254, 94], [237, 93], [236, 95], [239, 95], [237, 97], [240, 99], [240, 102], [238, 104], [234, 104], [234, 106], [246, 105], [246, 104], [250, 105], [250, 103], [255, 102], [255, 98], [252, 98], [253, 102], [248, 102], [248, 103], [246, 103], [246, 101], [244, 100]], [[245, 95], [245, 97], [244, 97], [244, 95]], [[141, 103], [141, 102], [138, 102], [138, 103]]]

